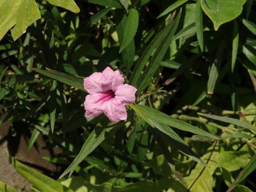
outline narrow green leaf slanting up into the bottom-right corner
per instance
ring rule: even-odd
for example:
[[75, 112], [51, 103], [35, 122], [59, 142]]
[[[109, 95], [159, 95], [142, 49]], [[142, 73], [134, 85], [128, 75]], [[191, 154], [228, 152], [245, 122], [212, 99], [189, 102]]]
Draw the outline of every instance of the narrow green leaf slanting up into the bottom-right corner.
[[243, 170], [238, 174], [234, 182], [228, 188], [227, 192], [231, 192], [238, 183], [243, 181], [251, 172], [256, 169], [256, 154], [251, 158], [250, 162], [243, 168]]

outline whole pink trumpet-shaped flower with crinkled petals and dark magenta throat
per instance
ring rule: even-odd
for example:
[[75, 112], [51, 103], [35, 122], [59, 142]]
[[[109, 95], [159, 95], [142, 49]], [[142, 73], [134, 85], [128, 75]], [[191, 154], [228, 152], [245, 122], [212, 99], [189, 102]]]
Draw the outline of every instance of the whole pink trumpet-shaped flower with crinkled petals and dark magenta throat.
[[123, 83], [120, 72], [109, 67], [84, 78], [84, 89], [89, 93], [84, 101], [85, 116], [96, 117], [104, 113], [112, 122], [126, 120], [125, 106], [134, 103], [137, 89]]

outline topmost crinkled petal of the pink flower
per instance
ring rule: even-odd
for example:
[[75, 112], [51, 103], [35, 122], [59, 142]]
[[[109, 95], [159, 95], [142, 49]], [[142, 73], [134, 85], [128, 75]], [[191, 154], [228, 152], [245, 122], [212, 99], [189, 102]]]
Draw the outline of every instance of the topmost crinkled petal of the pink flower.
[[104, 84], [103, 88], [105, 90], [113, 90], [116, 91], [118, 86], [124, 83], [124, 78], [120, 74], [118, 70], [113, 71], [110, 67], [107, 67], [103, 72], [104, 76]]

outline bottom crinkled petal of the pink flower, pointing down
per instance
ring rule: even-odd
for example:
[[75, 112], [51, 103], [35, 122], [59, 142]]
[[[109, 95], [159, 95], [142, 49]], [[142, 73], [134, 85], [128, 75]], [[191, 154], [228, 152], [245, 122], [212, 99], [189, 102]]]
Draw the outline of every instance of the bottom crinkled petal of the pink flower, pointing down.
[[125, 106], [118, 104], [115, 99], [106, 103], [104, 114], [112, 122], [127, 119], [127, 112]]

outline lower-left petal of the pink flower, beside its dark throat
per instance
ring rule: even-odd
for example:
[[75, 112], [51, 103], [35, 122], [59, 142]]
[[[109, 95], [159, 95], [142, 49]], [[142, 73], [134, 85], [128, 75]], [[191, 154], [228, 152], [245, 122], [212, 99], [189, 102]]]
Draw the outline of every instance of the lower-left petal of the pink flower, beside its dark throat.
[[104, 112], [108, 98], [104, 93], [89, 94], [84, 101], [86, 117], [97, 117]]

